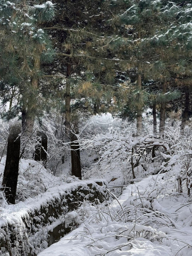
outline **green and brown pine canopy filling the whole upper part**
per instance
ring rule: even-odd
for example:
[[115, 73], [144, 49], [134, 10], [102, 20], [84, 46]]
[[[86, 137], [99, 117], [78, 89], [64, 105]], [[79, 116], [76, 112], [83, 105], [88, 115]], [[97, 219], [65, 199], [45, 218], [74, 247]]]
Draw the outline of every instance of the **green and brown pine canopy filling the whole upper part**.
[[52, 108], [69, 121], [110, 111], [137, 117], [140, 130], [146, 106], [182, 108], [190, 14], [179, 0], [1, 0], [1, 115], [24, 113], [29, 125]]

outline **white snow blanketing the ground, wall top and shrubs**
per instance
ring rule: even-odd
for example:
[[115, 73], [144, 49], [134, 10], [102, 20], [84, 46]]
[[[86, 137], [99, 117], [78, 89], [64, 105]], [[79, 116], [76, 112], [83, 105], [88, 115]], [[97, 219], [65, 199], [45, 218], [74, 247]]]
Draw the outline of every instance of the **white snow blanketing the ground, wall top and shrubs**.
[[[146, 115], [143, 118], [148, 117]], [[150, 130], [150, 125], [146, 125], [147, 129]], [[36, 248], [39, 256], [191, 256], [191, 197], [187, 197], [185, 180], [182, 181], [183, 193], [178, 192], [177, 180], [178, 176], [190, 179], [185, 166], [187, 164], [187, 170], [190, 171], [188, 156], [192, 153], [191, 138], [180, 138], [177, 127], [170, 127], [167, 132], [169, 137], [165, 140], [154, 139], [151, 134], [135, 137], [134, 133], [133, 124], [113, 119], [109, 114], [102, 115], [101, 122], [100, 116], [96, 115], [87, 125], [82, 126], [79, 130], [84, 163], [82, 176], [90, 179], [86, 182], [77, 180], [73, 184], [64, 184], [71, 179], [74, 181], [73, 177], [67, 177], [70, 169], [69, 157], [61, 166], [63, 173], [60, 177], [47, 172], [41, 163], [22, 159], [17, 193], [20, 193], [19, 198], [23, 202], [7, 206], [1, 193], [0, 224], [7, 221], [18, 228], [16, 223], [21, 223], [23, 217], [27, 219], [41, 205], [47, 207], [47, 199], [57, 200], [61, 194], [70, 194], [78, 184], [87, 185], [95, 178], [104, 178], [110, 183], [109, 193], [115, 199], [104, 203], [95, 200], [97, 204], [83, 201], [78, 209], [65, 212], [65, 216], [58, 219], [50, 216], [50, 224], [46, 226], [48, 231], [53, 230], [64, 219], [69, 223], [72, 221], [77, 228], [49, 248], [46, 248], [48, 245], [44, 241], [41, 248]], [[153, 146], [159, 146], [155, 151], [154, 162], [151, 158]], [[136, 149], [134, 154], [133, 147]], [[139, 151], [140, 148], [142, 151]], [[132, 155], [134, 163], [137, 159], [140, 161], [134, 167], [136, 179], [133, 179], [131, 172]], [[2, 158], [1, 170], [4, 168], [4, 161], [5, 158]], [[32, 193], [34, 194], [31, 195]], [[41, 214], [36, 216], [39, 223], [43, 218]], [[23, 229], [24, 226], [21, 225], [20, 228]], [[36, 227], [33, 228], [36, 230]], [[43, 229], [36, 230], [34, 237], [33, 243], [37, 246], [38, 239], [45, 237]], [[41, 251], [43, 248], [46, 249]]]

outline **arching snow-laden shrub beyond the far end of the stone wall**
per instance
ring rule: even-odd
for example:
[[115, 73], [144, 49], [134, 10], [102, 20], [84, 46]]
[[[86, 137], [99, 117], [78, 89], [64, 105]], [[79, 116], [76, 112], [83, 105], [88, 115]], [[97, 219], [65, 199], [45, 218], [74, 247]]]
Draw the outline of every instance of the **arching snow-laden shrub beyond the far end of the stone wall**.
[[152, 161], [152, 147], [161, 144], [165, 142], [155, 141], [148, 134], [135, 137], [134, 130], [123, 123], [121, 127], [110, 127], [87, 141], [86, 146], [95, 150], [97, 158], [84, 178], [95, 175], [114, 181], [113, 184], [129, 184], [134, 178], [133, 171], [138, 178], [160, 167], [159, 161]]

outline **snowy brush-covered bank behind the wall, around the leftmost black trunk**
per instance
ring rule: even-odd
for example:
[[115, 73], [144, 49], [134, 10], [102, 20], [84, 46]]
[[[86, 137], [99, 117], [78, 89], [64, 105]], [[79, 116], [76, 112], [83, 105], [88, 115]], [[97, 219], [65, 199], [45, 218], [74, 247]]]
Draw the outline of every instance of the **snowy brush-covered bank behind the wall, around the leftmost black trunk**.
[[[3, 156], [0, 163], [0, 184], [3, 179], [6, 156]], [[21, 159], [19, 162], [19, 176], [16, 192], [16, 203], [22, 203], [30, 198], [37, 198], [39, 194], [52, 187], [57, 187], [65, 183], [78, 180], [76, 177], [60, 175], [54, 176], [49, 170], [46, 170], [41, 162], [31, 159]], [[0, 212], [10, 212], [13, 206], [8, 205], [4, 195], [0, 191]]]

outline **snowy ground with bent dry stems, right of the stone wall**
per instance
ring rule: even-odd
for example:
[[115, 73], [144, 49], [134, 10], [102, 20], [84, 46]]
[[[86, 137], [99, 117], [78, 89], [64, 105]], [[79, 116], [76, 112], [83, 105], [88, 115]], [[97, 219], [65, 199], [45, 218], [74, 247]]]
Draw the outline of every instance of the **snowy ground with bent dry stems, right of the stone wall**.
[[192, 204], [167, 174], [128, 185], [111, 203], [84, 203], [77, 213], [82, 224], [38, 256], [192, 255]]

